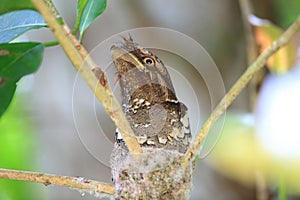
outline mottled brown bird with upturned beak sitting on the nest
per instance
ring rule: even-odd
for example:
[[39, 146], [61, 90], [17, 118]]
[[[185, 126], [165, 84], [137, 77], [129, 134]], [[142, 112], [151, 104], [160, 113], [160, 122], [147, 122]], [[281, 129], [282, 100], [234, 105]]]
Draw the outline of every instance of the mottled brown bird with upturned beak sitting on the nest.
[[187, 108], [178, 101], [163, 62], [131, 37], [111, 51], [123, 110], [138, 142], [185, 153], [191, 139]]

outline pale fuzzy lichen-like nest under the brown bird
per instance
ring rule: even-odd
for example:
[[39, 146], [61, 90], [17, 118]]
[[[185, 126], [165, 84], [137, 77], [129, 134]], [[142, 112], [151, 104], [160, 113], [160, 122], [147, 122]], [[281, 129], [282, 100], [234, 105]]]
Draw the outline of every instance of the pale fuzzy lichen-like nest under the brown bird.
[[143, 148], [131, 155], [116, 144], [111, 157], [116, 199], [188, 199], [193, 164], [183, 167], [183, 154], [157, 148]]

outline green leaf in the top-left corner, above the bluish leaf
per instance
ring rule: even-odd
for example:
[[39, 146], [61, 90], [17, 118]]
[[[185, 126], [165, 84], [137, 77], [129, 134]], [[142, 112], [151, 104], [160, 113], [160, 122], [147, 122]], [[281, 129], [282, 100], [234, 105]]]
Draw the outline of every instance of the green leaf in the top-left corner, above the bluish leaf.
[[31, 0], [1, 0], [0, 15], [14, 10], [35, 9]]

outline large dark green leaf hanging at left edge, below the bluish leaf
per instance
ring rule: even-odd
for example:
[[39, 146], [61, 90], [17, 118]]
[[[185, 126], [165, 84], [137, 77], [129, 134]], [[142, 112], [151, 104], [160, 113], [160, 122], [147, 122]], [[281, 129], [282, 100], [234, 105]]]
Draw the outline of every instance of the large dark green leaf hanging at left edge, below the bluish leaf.
[[12, 99], [17, 81], [40, 66], [43, 51], [44, 45], [34, 42], [0, 44], [0, 116]]

